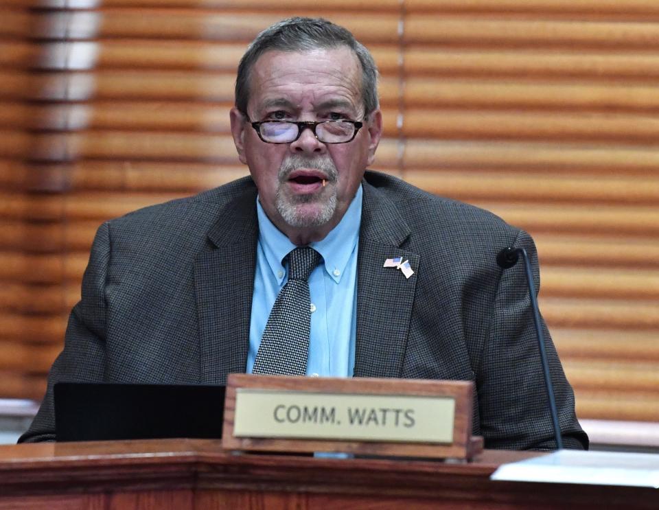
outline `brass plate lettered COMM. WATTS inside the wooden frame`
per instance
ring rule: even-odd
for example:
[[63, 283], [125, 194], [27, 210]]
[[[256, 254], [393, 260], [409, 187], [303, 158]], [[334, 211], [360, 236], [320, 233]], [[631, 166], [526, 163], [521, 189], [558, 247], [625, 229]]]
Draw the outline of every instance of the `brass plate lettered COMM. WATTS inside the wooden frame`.
[[238, 388], [235, 437], [453, 441], [455, 399]]

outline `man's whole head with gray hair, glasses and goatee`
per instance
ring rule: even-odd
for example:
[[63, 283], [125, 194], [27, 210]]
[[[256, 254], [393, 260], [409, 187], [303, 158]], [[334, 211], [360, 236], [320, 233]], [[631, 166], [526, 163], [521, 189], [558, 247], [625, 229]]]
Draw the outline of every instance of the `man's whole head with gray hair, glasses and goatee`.
[[269, 27], [240, 62], [235, 145], [268, 218], [296, 244], [336, 226], [373, 161], [382, 132], [377, 76], [369, 51], [322, 19]]

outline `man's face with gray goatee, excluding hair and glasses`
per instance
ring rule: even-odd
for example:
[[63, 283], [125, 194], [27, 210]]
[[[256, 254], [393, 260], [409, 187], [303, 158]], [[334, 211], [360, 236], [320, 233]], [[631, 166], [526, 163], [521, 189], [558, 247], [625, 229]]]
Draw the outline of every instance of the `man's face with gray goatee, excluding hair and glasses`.
[[[250, 91], [251, 121], [364, 121], [361, 67], [347, 47], [268, 51], [252, 68]], [[371, 113], [348, 143], [322, 143], [310, 129], [291, 143], [266, 143], [235, 108], [231, 130], [268, 218], [288, 237], [296, 229], [305, 231], [302, 238], [310, 242], [343, 218], [373, 161], [382, 116]]]

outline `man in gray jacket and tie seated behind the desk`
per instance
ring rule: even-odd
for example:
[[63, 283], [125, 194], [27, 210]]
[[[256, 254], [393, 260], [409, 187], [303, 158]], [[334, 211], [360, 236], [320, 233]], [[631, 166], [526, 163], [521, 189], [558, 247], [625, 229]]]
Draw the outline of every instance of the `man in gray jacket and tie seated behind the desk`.
[[[367, 49], [327, 21], [259, 34], [231, 110], [251, 178], [100, 227], [24, 441], [54, 439], [57, 381], [223, 384], [247, 371], [472, 380], [487, 448], [553, 447], [522, 267], [495, 262], [500, 248], [527, 248], [537, 279], [533, 242], [491, 213], [365, 173], [382, 135], [376, 80]], [[291, 319], [278, 295], [302, 252], [314, 260]], [[549, 344], [564, 445], [585, 448]]]

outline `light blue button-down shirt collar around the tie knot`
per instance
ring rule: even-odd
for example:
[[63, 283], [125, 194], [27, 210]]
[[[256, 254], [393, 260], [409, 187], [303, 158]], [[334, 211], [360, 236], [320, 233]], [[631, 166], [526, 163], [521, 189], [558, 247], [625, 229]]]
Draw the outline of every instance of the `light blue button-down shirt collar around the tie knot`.
[[[277, 282], [281, 284], [286, 273], [281, 262], [297, 246], [290, 242], [288, 237], [270, 221], [258, 197], [256, 198], [256, 211], [259, 222], [259, 244], [261, 244], [270, 270]], [[360, 185], [338, 225], [329, 231], [323, 240], [310, 244], [322, 255], [325, 271], [336, 283], [341, 281], [341, 277], [345, 273], [345, 266], [357, 245], [361, 219], [362, 186]]]

